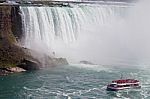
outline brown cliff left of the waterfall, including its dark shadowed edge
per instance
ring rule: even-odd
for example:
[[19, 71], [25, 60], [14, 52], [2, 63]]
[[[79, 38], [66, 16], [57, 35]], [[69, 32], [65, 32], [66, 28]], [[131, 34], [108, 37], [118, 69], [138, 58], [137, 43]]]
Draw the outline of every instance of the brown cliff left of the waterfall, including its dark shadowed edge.
[[0, 68], [24, 64], [25, 67], [38, 69], [38, 60], [25, 53], [27, 49], [18, 44], [17, 39], [22, 36], [21, 22], [19, 7], [0, 6]]

